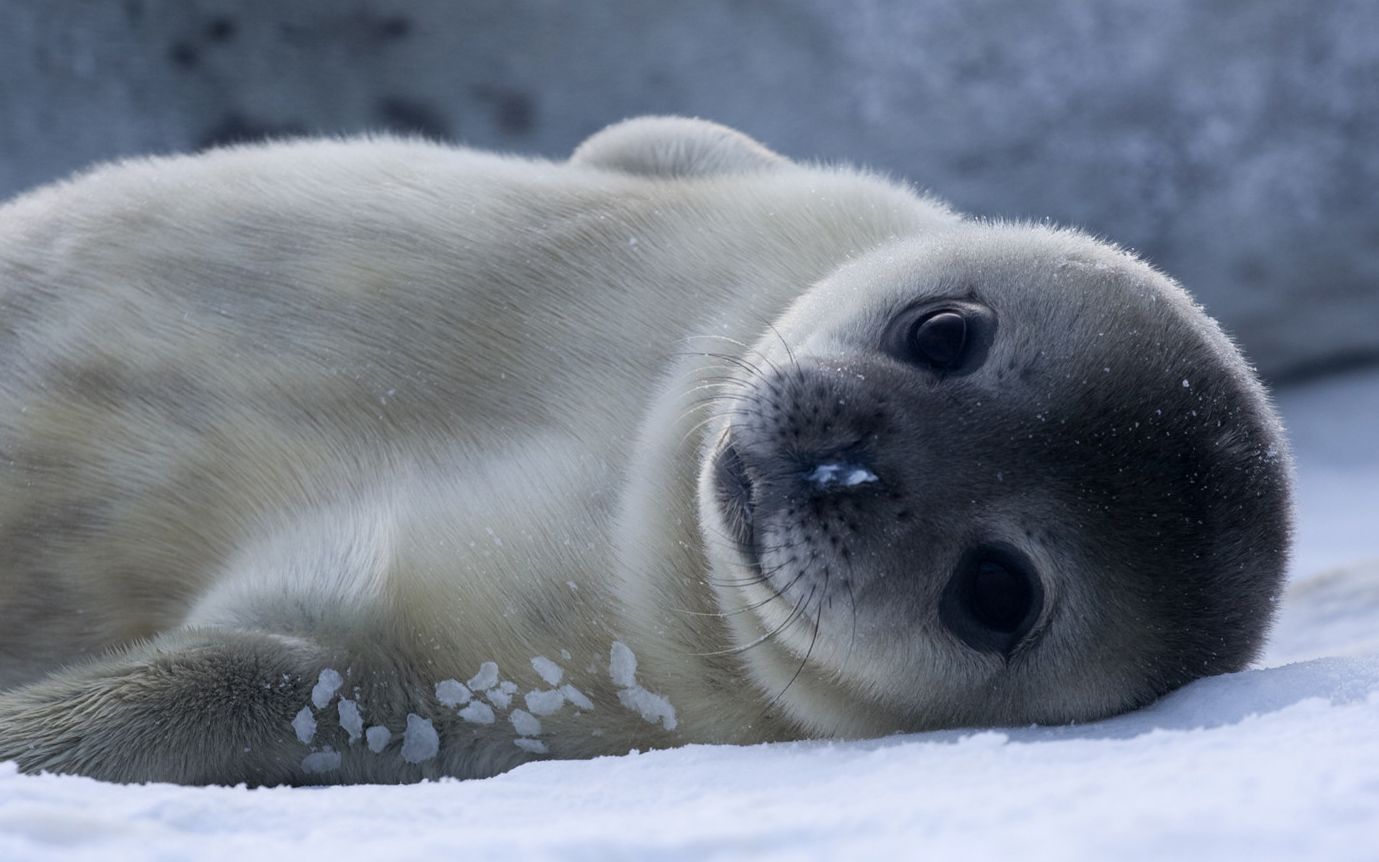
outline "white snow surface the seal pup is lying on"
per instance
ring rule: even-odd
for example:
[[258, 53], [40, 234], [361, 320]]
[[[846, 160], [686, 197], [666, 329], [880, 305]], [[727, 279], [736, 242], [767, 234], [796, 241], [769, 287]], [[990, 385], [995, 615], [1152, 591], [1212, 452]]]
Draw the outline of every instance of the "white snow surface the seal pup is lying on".
[[[3, 764], [0, 859], [1379, 861], [1379, 374], [1278, 401], [1300, 520], [1269, 651], [1136, 713], [396, 788], [117, 786]], [[630, 651], [610, 665], [645, 691]], [[499, 685], [496, 668], [469, 681], [485, 696]]]

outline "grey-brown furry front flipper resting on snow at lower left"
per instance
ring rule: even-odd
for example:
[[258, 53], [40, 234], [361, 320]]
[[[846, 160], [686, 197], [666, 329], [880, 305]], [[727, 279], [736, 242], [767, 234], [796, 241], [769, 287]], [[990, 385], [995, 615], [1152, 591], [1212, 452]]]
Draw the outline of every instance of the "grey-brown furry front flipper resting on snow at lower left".
[[0, 760], [121, 782], [310, 782], [292, 720], [324, 661], [295, 639], [171, 632], [0, 692]]

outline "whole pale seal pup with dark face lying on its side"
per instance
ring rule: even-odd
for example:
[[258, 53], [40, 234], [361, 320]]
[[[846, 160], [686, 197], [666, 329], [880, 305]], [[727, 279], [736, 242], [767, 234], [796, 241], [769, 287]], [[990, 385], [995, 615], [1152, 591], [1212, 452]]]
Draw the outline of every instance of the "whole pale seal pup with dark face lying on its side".
[[1169, 279], [720, 126], [0, 208], [0, 759], [189, 783], [1076, 721], [1259, 648], [1266, 393]]

